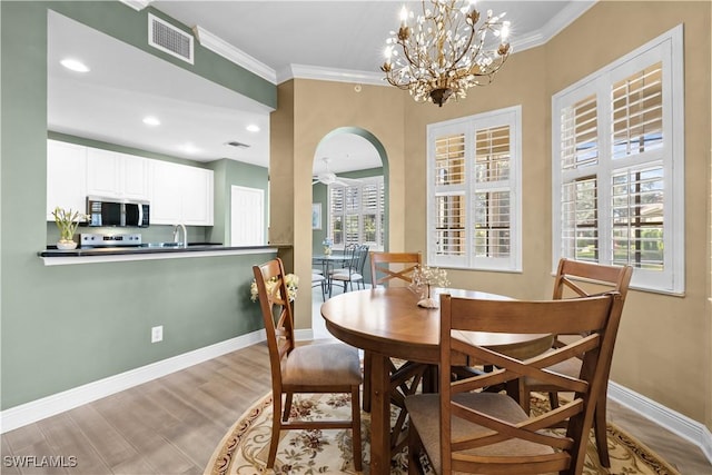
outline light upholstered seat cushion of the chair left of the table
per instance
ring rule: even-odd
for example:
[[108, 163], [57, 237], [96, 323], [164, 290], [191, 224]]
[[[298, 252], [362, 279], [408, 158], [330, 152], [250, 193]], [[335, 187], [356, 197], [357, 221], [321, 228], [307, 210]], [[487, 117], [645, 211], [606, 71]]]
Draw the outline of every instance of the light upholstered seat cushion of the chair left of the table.
[[358, 349], [342, 343], [298, 346], [283, 365], [281, 382], [309, 386], [359, 385]]

